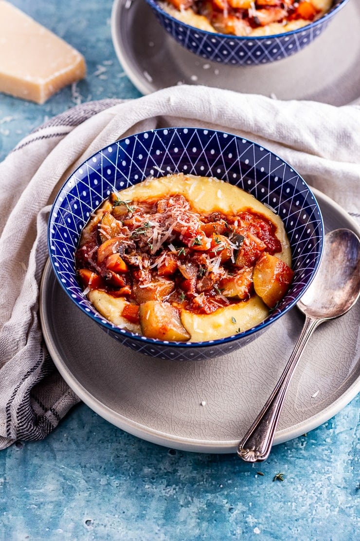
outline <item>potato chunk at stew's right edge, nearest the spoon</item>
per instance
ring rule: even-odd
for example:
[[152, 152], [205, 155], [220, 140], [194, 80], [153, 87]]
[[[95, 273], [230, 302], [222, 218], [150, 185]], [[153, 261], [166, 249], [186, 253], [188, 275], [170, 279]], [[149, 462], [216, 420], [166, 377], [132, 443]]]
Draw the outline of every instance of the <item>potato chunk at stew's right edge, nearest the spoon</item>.
[[263, 254], [253, 273], [254, 289], [269, 308], [274, 308], [287, 292], [294, 272], [275, 255]]

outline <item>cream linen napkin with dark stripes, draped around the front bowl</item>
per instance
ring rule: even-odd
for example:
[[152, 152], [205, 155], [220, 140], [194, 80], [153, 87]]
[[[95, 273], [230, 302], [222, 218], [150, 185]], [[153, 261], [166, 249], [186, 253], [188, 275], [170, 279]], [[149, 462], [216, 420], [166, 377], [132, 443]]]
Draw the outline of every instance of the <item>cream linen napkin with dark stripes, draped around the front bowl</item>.
[[79, 105], [25, 137], [0, 163], [0, 449], [44, 438], [79, 399], [46, 351], [38, 317], [51, 203], [71, 171], [138, 131], [218, 128], [259, 142], [360, 219], [360, 107], [277, 101], [179, 86]]

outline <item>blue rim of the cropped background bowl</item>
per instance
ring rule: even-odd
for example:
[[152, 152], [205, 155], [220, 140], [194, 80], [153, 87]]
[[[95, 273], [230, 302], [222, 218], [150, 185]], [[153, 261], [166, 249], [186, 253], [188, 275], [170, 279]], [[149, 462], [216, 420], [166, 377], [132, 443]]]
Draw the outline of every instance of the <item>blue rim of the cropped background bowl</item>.
[[[320, 19], [317, 19], [316, 21], [313, 21], [304, 27], [296, 28], [295, 30], [289, 30], [288, 32], [281, 32], [281, 34], [269, 34], [268, 36], [233, 36], [231, 34], [220, 34], [220, 32], [210, 32], [209, 30], [201, 30], [200, 28], [196, 28], [191, 26], [190, 24], [184, 23], [180, 21], [179, 19], [176, 19], [172, 15], [169, 15], [166, 11], [164, 11], [161, 6], [159, 6], [157, 0], [145, 0], [153, 10], [157, 11], [160, 15], [166, 16], [167, 18], [171, 19], [171, 21], [178, 23], [185, 28], [195, 30], [196, 32], [199, 32], [203, 36], [207, 35], [210, 37], [216, 36], [218, 38], [226, 38], [229, 39], [229, 41], [257, 41], [258, 39], [260, 41], [264, 41], [266, 39], [273, 39], [273, 38], [281, 38], [286, 36], [293, 36], [294, 34], [300, 34], [301, 32], [307, 31], [310, 28], [315, 28], [319, 24], [323, 24], [325, 21], [333, 17], [340, 9], [344, 7], [345, 4], [348, 3], [349, 0], [340, 0], [336, 5], [332, 6], [332, 8], [329, 9]], [[334, 0], [336, 2], [336, 0]]]

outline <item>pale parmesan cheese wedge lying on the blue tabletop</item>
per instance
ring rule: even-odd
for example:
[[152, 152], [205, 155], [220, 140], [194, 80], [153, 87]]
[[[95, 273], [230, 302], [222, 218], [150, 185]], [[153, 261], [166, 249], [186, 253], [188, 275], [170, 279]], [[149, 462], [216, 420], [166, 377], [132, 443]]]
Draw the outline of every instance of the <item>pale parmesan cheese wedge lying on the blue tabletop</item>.
[[86, 75], [83, 55], [0, 0], [0, 92], [44, 103]]

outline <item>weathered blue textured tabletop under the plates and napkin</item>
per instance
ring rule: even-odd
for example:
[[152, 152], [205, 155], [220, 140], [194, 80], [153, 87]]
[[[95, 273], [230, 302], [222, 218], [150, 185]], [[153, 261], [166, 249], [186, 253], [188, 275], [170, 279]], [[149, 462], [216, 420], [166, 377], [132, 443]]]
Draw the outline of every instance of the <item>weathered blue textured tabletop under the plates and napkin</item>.
[[[83, 52], [82, 101], [139, 95], [112, 48], [111, 0], [13, 3]], [[0, 159], [79, 100], [69, 88], [42, 106], [0, 95]], [[0, 539], [358, 539], [359, 402], [254, 466], [147, 443], [82, 404], [46, 440], [0, 453]]]

